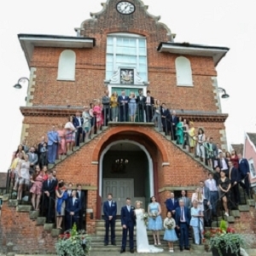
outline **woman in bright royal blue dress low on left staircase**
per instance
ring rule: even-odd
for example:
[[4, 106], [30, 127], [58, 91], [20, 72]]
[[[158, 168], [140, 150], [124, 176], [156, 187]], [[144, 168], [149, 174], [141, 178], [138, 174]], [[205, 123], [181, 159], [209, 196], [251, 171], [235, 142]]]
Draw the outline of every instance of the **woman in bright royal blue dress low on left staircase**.
[[55, 190], [56, 195], [56, 229], [61, 229], [62, 219], [65, 216], [67, 189], [64, 186], [63, 181], [60, 182]]

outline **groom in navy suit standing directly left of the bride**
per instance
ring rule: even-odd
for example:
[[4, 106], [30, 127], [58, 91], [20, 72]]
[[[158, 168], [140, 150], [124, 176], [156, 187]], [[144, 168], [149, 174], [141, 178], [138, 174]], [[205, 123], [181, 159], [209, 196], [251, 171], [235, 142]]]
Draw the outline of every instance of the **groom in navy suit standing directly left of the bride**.
[[136, 224], [135, 208], [131, 207], [131, 198], [126, 198], [126, 206], [121, 208], [121, 224], [123, 227], [122, 247], [120, 253], [125, 253], [127, 232], [129, 230], [130, 253], [134, 253], [133, 231]]

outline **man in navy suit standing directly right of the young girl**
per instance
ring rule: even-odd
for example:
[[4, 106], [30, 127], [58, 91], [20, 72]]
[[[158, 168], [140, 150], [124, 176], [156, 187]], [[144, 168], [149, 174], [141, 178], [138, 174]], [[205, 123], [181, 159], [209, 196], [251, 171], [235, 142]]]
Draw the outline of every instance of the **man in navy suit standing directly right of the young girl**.
[[179, 236], [179, 249], [182, 252], [183, 246], [185, 250], [189, 250], [189, 223], [190, 223], [190, 211], [188, 207], [184, 207], [183, 200], [179, 200], [179, 207], [176, 208], [176, 226], [180, 232]]

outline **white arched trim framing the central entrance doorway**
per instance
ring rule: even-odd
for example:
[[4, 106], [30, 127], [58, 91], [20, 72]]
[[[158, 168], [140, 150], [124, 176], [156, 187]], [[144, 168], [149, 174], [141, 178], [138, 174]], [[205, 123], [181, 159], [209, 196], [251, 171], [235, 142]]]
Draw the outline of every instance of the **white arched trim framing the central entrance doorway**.
[[99, 195], [102, 196], [102, 162], [104, 155], [108, 152], [109, 148], [111, 148], [113, 145], [116, 145], [118, 143], [131, 143], [133, 145], [137, 145], [137, 147], [141, 148], [144, 153], [147, 155], [148, 158], [148, 172], [149, 172], [149, 189], [150, 189], [150, 196], [154, 195], [154, 167], [153, 167], [153, 160], [150, 157], [150, 154], [148, 153], [148, 150], [141, 145], [140, 143], [134, 142], [134, 141], [127, 141], [127, 140], [119, 140], [115, 141], [113, 143], [110, 143], [107, 148], [104, 148], [102, 151], [99, 163], [100, 163], [100, 170], [99, 170]]

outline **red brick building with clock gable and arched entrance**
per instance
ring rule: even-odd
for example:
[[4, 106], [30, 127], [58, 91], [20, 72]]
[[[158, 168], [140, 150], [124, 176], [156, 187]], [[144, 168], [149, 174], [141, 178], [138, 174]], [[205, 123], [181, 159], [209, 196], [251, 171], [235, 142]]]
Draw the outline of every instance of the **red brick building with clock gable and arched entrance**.
[[[77, 37], [19, 34], [30, 83], [21, 137], [38, 142], [51, 125], [67, 122], [108, 88], [128, 94], [150, 90], [151, 95], [177, 115], [203, 127], [207, 136], [226, 148], [224, 121], [218, 96], [218, 62], [228, 48], [178, 44], [175, 34], [148, 14], [141, 0], [108, 0], [77, 28]], [[72, 21], [71, 21], [72, 22]], [[122, 73], [132, 73], [123, 83]], [[129, 160], [125, 172], [114, 172], [117, 158]], [[150, 123], [109, 123], [101, 134], [53, 166], [58, 177], [83, 183], [87, 191], [86, 228], [95, 232], [107, 193], [119, 208], [126, 196], [148, 205], [155, 195], [163, 208], [168, 191], [190, 193], [207, 169], [177, 145], [166, 140]], [[164, 216], [165, 213], [163, 213]]]

